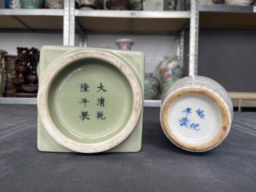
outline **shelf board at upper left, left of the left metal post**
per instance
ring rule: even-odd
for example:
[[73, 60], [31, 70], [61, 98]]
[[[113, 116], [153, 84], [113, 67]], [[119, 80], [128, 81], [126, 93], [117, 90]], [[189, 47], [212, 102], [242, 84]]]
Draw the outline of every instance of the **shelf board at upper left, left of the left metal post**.
[[0, 9], [0, 30], [63, 30], [63, 16], [63, 9]]

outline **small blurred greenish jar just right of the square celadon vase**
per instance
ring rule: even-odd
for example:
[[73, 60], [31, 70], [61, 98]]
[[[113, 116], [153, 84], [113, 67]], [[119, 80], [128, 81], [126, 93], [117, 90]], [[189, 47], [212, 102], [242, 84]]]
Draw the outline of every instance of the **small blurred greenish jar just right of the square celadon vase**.
[[144, 99], [157, 99], [159, 83], [152, 73], [145, 73]]

